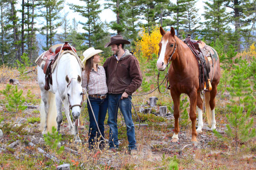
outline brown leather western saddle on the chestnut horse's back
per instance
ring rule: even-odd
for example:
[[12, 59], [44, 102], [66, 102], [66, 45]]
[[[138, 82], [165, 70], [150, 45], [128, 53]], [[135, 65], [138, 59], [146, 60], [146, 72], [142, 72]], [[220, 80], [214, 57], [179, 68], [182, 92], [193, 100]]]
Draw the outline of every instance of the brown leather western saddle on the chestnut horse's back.
[[[209, 77], [209, 73], [211, 71], [210, 63], [208, 57], [210, 57], [210, 60], [213, 60], [212, 54], [209, 52], [209, 49], [207, 49], [207, 45], [200, 41], [200, 40], [192, 40], [190, 34], [186, 37], [185, 40], [183, 40], [184, 43], [188, 45], [188, 47], [191, 49], [193, 54], [196, 56], [196, 60], [198, 63], [198, 69], [199, 69], [199, 84], [200, 89], [201, 85], [204, 85], [204, 91], [211, 91], [212, 90], [212, 79]], [[204, 43], [203, 46], [199, 46], [199, 43]], [[213, 66], [213, 62], [212, 62]]]

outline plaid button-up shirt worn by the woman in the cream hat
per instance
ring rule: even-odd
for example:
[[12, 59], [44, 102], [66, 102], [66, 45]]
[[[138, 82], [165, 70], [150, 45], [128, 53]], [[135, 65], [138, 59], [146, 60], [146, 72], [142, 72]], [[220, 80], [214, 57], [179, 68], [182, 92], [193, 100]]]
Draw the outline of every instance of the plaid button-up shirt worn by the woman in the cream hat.
[[[82, 72], [82, 87], [87, 91], [87, 73], [85, 70]], [[88, 94], [103, 95], [108, 92], [106, 84], [106, 73], [102, 66], [98, 66], [98, 72], [93, 68], [90, 72], [90, 78], [88, 83]]]

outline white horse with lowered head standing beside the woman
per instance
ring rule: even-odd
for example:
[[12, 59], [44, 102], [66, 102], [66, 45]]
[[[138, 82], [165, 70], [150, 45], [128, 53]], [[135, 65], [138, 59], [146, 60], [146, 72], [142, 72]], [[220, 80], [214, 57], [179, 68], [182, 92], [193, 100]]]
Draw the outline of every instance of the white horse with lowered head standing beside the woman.
[[[81, 67], [76, 56], [70, 53], [62, 55], [52, 72], [52, 85], [50, 84], [49, 91], [44, 89], [44, 70], [37, 66], [37, 73], [38, 84], [41, 89], [40, 115], [42, 134], [51, 131], [52, 126], [56, 127], [56, 122], [57, 131], [60, 132], [60, 124], [63, 119], [61, 112], [63, 104], [65, 115], [68, 119], [69, 130], [74, 135], [74, 141], [81, 143], [77, 126], [83, 99], [83, 89], [81, 85]], [[72, 109], [74, 125], [71, 122], [69, 107]]]

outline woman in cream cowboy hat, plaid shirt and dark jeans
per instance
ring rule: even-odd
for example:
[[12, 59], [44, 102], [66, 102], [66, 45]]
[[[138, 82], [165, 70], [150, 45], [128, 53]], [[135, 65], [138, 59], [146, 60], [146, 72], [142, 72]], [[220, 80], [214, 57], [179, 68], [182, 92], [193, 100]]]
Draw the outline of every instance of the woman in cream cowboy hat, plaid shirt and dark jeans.
[[[98, 123], [100, 133], [104, 137], [104, 120], [108, 108], [108, 99], [107, 92], [108, 87], [106, 84], [106, 74], [102, 66], [99, 66], [100, 56], [99, 53], [103, 52], [102, 50], [95, 50], [93, 47], [88, 48], [84, 51], [84, 61], [85, 70], [82, 72], [82, 87], [85, 91], [88, 92], [89, 100], [92, 105], [92, 110], [95, 115], [96, 121]], [[89, 127], [89, 148], [97, 146], [100, 133], [98, 131], [97, 125], [92, 115], [92, 110], [87, 101], [87, 108], [90, 117], [90, 127]], [[100, 140], [103, 140], [100, 137]], [[100, 147], [102, 147], [100, 145]]]

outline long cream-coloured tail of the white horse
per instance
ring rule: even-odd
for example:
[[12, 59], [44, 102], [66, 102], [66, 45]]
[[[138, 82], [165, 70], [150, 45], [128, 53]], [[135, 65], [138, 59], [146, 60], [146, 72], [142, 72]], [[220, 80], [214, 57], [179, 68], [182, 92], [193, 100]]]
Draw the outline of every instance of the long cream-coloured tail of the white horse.
[[[47, 132], [52, 132], [52, 126], [57, 128], [56, 101], [55, 101], [55, 94], [53, 94], [52, 92], [49, 92], [48, 103], [49, 103], [49, 112], [48, 112], [47, 129], [46, 130], [47, 130]], [[46, 114], [45, 114], [45, 110], [44, 110], [44, 102], [42, 99], [41, 99], [40, 117], [41, 117], [40, 128], [41, 128], [41, 130], [44, 130]]]

